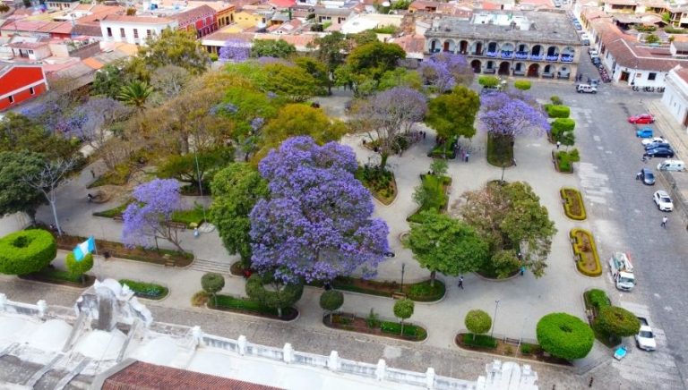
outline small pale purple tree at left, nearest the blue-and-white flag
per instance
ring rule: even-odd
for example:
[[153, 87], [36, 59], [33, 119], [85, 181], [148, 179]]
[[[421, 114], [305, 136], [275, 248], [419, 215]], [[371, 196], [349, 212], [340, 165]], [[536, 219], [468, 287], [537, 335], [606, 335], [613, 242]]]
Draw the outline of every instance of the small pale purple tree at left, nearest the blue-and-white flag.
[[153, 238], [157, 247], [160, 237], [184, 251], [178, 228], [170, 224], [172, 213], [181, 208], [179, 182], [155, 179], [143, 183], [133, 190], [133, 198], [135, 201], [127, 206], [123, 215], [122, 241], [125, 245], [150, 248], [150, 238]]

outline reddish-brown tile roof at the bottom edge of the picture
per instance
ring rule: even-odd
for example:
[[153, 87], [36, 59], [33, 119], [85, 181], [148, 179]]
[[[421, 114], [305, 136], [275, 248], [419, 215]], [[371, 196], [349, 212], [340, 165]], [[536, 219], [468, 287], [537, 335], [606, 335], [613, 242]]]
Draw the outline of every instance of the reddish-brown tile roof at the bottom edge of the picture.
[[107, 377], [102, 390], [280, 390], [227, 377], [135, 361]]

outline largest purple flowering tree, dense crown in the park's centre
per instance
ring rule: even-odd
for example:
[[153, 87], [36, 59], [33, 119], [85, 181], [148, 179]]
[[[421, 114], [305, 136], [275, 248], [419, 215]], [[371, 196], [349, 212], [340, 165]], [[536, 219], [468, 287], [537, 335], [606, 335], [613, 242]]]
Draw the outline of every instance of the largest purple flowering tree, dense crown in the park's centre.
[[372, 218], [356, 155], [336, 142], [293, 137], [272, 149], [259, 170], [271, 196], [251, 212], [252, 264], [283, 283], [331, 281], [361, 268], [372, 277], [389, 250], [389, 229]]

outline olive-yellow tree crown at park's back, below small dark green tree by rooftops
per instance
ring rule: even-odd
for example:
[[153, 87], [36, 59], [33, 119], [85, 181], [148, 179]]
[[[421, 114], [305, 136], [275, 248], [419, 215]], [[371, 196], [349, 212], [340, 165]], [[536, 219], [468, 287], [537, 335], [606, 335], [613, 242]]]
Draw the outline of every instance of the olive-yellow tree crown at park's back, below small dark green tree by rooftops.
[[264, 69], [267, 77], [264, 87], [268, 91], [295, 102], [302, 102], [317, 92], [317, 82], [303, 68], [286, 64], [267, 64]]

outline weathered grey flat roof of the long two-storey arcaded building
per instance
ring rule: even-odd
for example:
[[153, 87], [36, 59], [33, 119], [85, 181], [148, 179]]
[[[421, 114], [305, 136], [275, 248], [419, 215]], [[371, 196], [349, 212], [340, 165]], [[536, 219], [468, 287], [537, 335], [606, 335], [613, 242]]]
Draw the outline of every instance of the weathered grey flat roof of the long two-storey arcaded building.
[[427, 38], [480, 38], [580, 45], [580, 38], [565, 13], [555, 11], [478, 12], [467, 21], [443, 18], [434, 21]]

